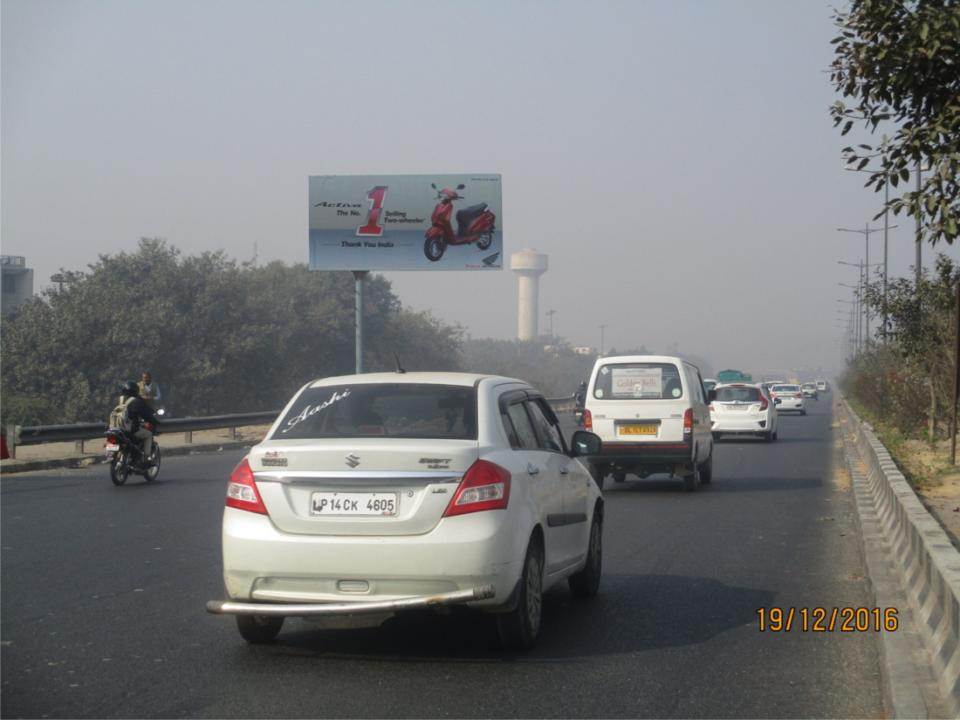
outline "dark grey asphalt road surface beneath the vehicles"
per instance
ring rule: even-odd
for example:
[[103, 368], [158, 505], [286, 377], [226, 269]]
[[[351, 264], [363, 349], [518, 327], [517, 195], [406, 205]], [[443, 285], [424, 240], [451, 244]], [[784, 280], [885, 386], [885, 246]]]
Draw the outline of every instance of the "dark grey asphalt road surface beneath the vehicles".
[[[870, 634], [761, 633], [760, 607], [868, 602], [829, 401], [780, 441], [723, 442], [697, 493], [608, 479], [598, 597], [550, 593], [539, 645], [470, 613], [379, 628], [288, 621], [253, 647], [223, 597], [220, 515], [242, 453], [0, 480], [4, 717], [878, 717]], [[162, 438], [161, 438], [162, 441]]]

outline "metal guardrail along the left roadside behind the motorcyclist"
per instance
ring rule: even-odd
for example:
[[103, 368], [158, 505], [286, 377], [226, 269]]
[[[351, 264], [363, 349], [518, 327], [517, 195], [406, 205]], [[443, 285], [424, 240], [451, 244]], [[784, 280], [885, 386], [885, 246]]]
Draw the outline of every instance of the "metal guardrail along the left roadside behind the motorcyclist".
[[[547, 398], [547, 402], [556, 412], [570, 412], [576, 404], [576, 396], [562, 398]], [[191, 434], [199, 430], [216, 430], [230, 428], [232, 435], [236, 428], [246, 425], [266, 425], [272, 423], [280, 410], [270, 410], [256, 413], [235, 413], [232, 415], [210, 415], [207, 417], [192, 418], [164, 418], [160, 421], [163, 433], [182, 432], [186, 441], [192, 442]], [[49, 442], [78, 443], [78, 449], [83, 451], [83, 443], [87, 440], [96, 440], [103, 437], [107, 431], [105, 423], [77, 423], [74, 425], [8, 425], [6, 428], [7, 448], [10, 457], [16, 457], [18, 445], [40, 445]]]

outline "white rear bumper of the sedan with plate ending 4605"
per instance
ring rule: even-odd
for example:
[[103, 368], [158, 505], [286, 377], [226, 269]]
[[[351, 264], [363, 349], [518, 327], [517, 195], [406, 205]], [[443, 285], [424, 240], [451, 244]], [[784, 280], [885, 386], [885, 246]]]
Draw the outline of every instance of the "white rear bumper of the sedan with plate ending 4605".
[[509, 597], [522, 565], [522, 552], [504, 526], [502, 511], [490, 511], [445, 518], [422, 535], [305, 535], [281, 532], [266, 515], [228, 507], [224, 584], [230, 600], [356, 603], [358, 612], [365, 603], [491, 587], [490, 594], [458, 602], [495, 607]]

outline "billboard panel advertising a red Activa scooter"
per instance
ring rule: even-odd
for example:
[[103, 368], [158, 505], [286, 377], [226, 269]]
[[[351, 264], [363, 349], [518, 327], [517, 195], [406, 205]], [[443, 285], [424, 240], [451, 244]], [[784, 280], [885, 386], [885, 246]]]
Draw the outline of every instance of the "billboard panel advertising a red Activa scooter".
[[500, 175], [312, 175], [311, 270], [500, 270]]

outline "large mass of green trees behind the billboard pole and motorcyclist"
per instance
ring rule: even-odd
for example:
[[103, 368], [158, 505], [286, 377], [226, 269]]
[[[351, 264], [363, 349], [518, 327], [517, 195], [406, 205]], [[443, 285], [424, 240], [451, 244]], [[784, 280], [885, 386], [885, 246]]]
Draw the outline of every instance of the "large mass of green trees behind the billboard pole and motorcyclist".
[[[149, 369], [176, 415], [280, 407], [304, 382], [352, 373], [347, 272], [223, 253], [184, 257], [162, 240], [101, 256], [61, 292], [4, 318], [4, 423], [104, 419], [115, 387]], [[401, 307], [382, 277], [365, 293], [365, 367], [457, 369], [459, 328]]]

